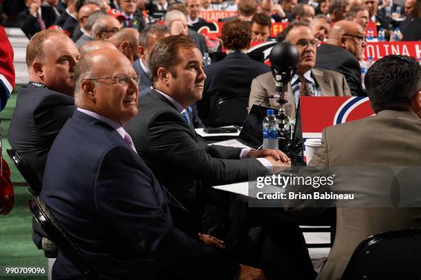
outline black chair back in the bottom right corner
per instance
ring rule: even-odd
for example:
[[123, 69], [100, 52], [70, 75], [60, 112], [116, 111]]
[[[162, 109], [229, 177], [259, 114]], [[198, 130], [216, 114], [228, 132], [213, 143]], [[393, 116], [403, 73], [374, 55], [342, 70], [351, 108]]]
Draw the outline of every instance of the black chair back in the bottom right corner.
[[387, 231], [354, 250], [342, 280], [421, 279], [421, 229]]

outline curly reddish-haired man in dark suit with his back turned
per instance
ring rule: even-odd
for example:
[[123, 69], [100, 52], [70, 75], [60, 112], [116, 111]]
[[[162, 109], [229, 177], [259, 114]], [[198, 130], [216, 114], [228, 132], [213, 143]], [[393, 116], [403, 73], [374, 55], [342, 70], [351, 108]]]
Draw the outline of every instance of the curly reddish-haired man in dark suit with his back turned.
[[199, 117], [204, 121], [217, 100], [222, 97], [248, 97], [252, 80], [270, 71], [263, 62], [252, 60], [246, 54], [251, 40], [248, 23], [239, 20], [226, 23], [222, 27], [221, 40], [227, 56], [205, 67], [207, 78], [203, 98], [197, 102]]

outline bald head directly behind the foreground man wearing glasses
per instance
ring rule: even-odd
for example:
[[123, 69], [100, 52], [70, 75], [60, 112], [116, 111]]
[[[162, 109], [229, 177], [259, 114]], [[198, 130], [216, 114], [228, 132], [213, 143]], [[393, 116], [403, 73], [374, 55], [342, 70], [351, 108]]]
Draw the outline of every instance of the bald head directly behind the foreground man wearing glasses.
[[139, 32], [134, 28], [123, 28], [108, 40], [113, 43], [119, 51], [122, 52], [131, 63], [139, 58]]

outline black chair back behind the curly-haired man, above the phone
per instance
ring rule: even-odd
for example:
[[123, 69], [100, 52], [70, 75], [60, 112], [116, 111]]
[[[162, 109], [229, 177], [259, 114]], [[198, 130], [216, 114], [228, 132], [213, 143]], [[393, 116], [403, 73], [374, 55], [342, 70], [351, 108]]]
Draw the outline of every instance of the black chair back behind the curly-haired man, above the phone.
[[223, 97], [215, 102], [206, 126], [242, 126], [246, 117], [248, 96]]

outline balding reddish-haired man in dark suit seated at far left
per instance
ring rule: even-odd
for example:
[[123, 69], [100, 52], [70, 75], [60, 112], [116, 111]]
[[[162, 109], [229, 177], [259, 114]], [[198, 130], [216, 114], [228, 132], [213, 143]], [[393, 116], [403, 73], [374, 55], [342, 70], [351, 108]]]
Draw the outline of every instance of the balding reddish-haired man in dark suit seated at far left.
[[[72, 40], [56, 30], [39, 32], [26, 48], [30, 82], [19, 89], [8, 140], [40, 181], [48, 151], [75, 110], [72, 78], [78, 57]], [[41, 248], [39, 235], [34, 242]]]

